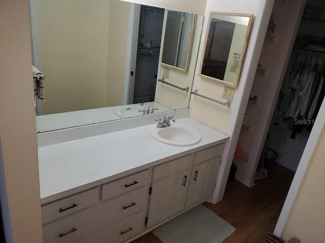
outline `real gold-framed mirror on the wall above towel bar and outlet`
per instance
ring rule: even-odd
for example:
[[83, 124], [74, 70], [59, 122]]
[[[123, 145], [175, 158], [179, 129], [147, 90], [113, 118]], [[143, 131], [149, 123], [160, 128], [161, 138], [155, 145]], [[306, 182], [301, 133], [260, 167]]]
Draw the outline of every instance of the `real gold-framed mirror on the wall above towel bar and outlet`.
[[211, 12], [200, 76], [236, 87], [252, 25], [252, 15]]

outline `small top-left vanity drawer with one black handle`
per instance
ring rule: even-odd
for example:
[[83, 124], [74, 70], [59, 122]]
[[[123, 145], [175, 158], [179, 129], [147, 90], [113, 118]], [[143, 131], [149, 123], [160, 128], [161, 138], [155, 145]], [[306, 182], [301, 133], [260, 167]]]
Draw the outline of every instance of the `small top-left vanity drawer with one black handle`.
[[85, 191], [80, 194], [56, 201], [55, 203], [43, 206], [43, 224], [99, 203], [99, 198], [100, 188], [96, 187], [89, 191]]

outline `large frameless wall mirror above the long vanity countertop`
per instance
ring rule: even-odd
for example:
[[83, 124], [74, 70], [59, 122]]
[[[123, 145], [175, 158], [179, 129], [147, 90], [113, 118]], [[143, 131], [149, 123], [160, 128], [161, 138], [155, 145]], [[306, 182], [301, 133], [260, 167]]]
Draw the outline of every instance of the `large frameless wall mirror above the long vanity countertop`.
[[[183, 105], [173, 107], [164, 100], [175, 91], [156, 92], [165, 9], [119, 0], [29, 0], [29, 5], [33, 65], [45, 74], [38, 133], [188, 107], [189, 96], [179, 96], [177, 104]], [[201, 32], [195, 35], [194, 54]], [[191, 86], [194, 67], [188, 73]]]

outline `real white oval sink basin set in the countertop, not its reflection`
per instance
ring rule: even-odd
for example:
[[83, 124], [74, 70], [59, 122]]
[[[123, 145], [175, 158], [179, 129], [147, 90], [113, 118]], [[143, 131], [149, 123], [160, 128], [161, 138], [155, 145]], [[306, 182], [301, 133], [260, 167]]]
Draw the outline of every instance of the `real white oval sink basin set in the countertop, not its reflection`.
[[193, 128], [177, 123], [167, 128], [152, 126], [149, 129], [149, 134], [159, 142], [175, 146], [194, 145], [202, 139], [201, 134]]

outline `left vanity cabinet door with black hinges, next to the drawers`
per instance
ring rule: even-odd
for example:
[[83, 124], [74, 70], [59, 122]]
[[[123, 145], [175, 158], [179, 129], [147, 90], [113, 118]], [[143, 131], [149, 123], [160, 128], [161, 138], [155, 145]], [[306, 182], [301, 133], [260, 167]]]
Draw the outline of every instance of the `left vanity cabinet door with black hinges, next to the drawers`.
[[188, 179], [188, 170], [186, 170], [151, 184], [148, 227], [183, 210]]

